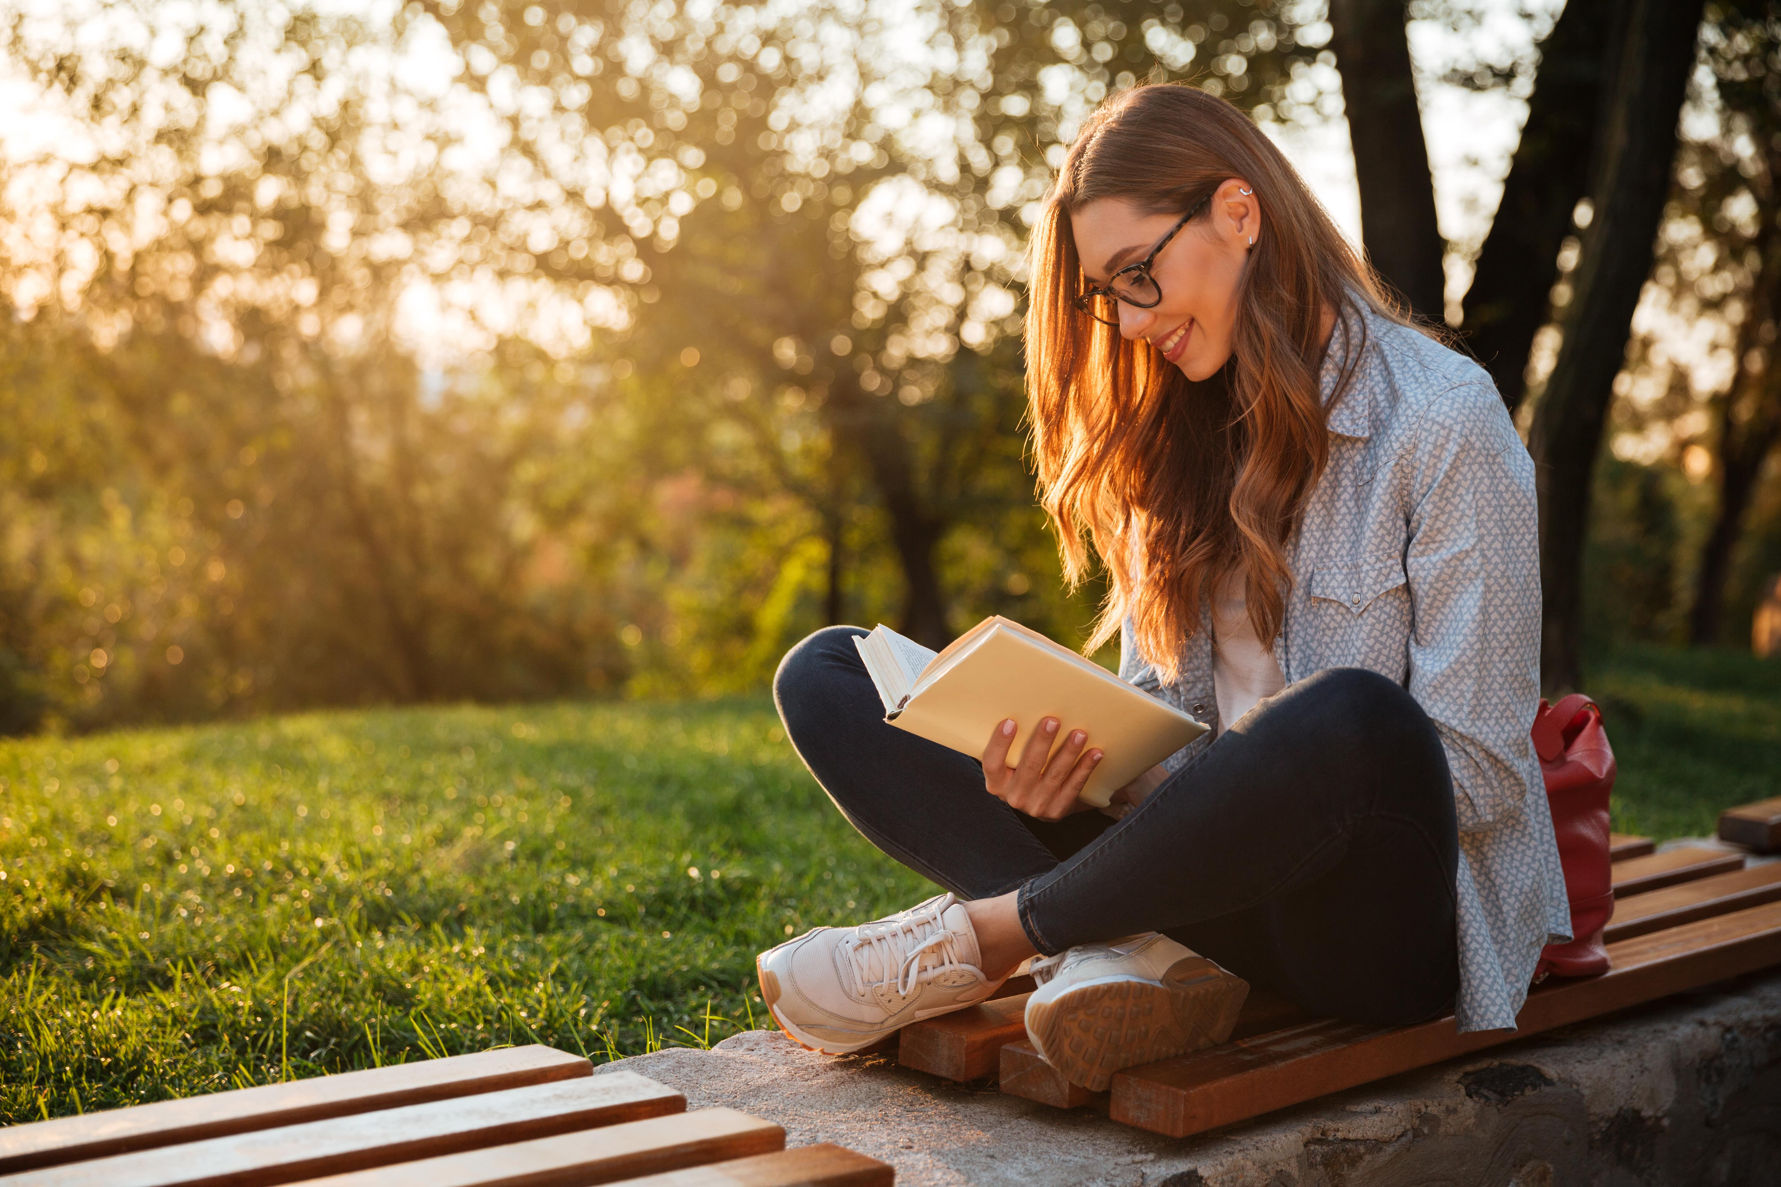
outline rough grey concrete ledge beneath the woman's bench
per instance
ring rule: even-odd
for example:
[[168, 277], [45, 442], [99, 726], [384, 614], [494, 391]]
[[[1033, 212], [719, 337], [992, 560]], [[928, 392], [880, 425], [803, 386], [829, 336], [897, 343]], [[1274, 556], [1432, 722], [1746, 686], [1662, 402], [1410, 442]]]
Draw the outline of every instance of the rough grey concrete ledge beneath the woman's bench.
[[1781, 1182], [1781, 972], [1184, 1141], [766, 1030], [616, 1070], [883, 1159], [903, 1187]]

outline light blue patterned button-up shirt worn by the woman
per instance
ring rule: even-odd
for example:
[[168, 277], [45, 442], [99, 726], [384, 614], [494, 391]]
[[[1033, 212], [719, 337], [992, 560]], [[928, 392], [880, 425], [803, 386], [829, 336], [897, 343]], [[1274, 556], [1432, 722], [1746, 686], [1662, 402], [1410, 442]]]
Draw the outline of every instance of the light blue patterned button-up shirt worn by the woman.
[[[1288, 545], [1273, 657], [1286, 683], [1368, 667], [1434, 719], [1459, 813], [1459, 1029], [1514, 1027], [1541, 949], [1571, 929], [1528, 739], [1541, 699], [1533, 461], [1484, 368], [1373, 311], [1338, 326], [1325, 400], [1355, 347], [1329, 466]], [[1120, 676], [1215, 726], [1165, 763], [1177, 771], [1218, 726], [1209, 625], [1170, 685], [1122, 634]]]

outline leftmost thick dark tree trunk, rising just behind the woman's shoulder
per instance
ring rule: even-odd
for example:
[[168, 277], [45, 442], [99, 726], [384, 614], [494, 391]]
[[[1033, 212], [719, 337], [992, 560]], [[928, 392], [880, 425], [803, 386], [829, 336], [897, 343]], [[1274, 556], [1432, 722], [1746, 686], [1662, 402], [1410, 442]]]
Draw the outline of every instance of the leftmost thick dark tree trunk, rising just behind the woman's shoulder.
[[1330, 0], [1330, 48], [1341, 69], [1348, 139], [1361, 183], [1366, 254], [1411, 304], [1432, 320], [1444, 311], [1428, 146], [1403, 37], [1403, 0]]

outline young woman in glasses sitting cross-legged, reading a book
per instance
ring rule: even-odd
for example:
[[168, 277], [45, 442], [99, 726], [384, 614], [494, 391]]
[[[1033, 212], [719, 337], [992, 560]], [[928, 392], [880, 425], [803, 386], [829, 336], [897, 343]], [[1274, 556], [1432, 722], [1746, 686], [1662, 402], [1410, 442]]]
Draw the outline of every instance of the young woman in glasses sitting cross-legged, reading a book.
[[1065, 573], [1092, 545], [1111, 578], [1090, 646], [1118, 632], [1120, 676], [1213, 728], [1115, 822], [1079, 812], [1101, 751], [1067, 705], [978, 763], [883, 723], [864, 632], [810, 635], [775, 680], [793, 744], [947, 893], [762, 952], [775, 1018], [858, 1050], [1040, 956], [1033, 1041], [1104, 1086], [1199, 1041], [1170, 981], [1197, 952], [1316, 1014], [1514, 1027], [1571, 920], [1528, 740], [1533, 466], [1489, 375], [1183, 85], [1111, 98], [1070, 146], [1026, 338]]

